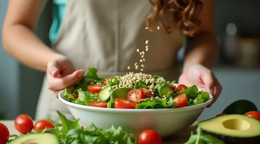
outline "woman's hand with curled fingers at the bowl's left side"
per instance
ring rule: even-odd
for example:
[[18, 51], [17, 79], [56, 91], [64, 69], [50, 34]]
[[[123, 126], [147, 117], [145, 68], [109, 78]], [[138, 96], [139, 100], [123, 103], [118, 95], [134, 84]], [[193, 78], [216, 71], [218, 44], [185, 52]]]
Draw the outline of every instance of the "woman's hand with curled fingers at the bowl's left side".
[[83, 70], [76, 70], [73, 63], [65, 57], [50, 61], [47, 67], [48, 88], [57, 97], [64, 88], [77, 84], [84, 73]]

